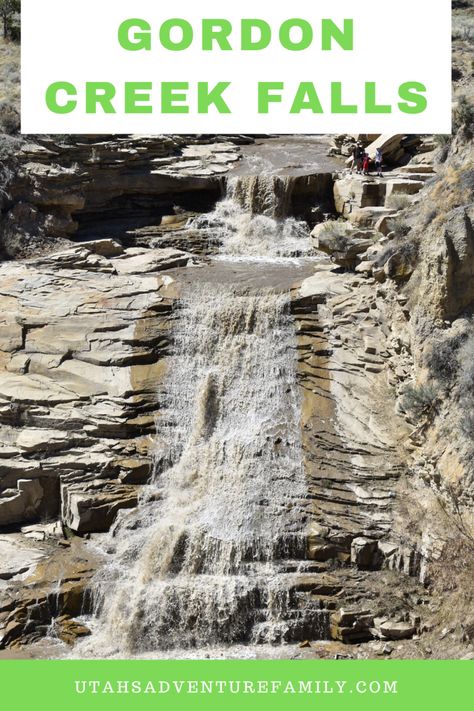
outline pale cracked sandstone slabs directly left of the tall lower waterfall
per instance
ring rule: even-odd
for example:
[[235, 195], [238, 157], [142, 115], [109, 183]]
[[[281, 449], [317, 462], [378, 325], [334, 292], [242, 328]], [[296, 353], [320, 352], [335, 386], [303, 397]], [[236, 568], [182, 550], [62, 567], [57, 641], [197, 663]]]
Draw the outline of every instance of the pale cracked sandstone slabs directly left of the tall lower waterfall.
[[166, 270], [189, 259], [97, 242], [0, 267], [0, 525], [61, 512], [104, 531], [136, 505], [176, 296]]

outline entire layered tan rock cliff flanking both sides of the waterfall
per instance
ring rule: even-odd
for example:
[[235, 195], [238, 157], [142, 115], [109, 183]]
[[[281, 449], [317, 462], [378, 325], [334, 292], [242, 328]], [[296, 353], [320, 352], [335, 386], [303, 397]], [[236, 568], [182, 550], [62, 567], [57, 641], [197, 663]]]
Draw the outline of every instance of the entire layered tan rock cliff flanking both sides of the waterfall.
[[[189, 265], [219, 249], [225, 215], [206, 213], [238, 157], [235, 143], [180, 141], [45, 141], [8, 165], [3, 646], [51, 625], [69, 642], [88, 633], [74, 621], [101, 565], [87, 538], [149, 481], [174, 305]], [[377, 653], [370, 640], [415, 635], [398, 656], [461, 656], [471, 639], [471, 149], [463, 126], [444, 163], [426, 140], [382, 179], [239, 187], [244, 209], [247, 197], [270, 209], [272, 193], [271, 215], [318, 222], [313, 254], [329, 255], [292, 290], [313, 561], [294, 594], [327, 616], [334, 640], [368, 643], [362, 654]], [[328, 213], [344, 221], [320, 222]], [[459, 595], [466, 604], [447, 610]]]

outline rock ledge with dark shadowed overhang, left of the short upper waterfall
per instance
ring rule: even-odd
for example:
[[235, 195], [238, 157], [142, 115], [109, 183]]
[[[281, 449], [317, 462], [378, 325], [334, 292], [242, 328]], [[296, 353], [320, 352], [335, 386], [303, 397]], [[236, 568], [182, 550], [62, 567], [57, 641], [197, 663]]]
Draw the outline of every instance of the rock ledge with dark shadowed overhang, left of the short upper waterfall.
[[[37, 255], [84, 238], [132, 233], [183, 209], [210, 209], [246, 137], [44, 137], [15, 157], [0, 256]], [[193, 145], [194, 143], [194, 145]], [[130, 244], [133, 237], [130, 236]]]

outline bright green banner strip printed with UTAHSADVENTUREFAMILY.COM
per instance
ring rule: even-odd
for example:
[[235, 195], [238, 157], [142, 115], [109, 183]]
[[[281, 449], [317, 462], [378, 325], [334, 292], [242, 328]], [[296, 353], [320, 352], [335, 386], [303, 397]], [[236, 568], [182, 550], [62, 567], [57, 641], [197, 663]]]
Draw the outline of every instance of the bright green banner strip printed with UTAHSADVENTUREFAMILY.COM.
[[2, 707], [463, 709], [469, 661], [2, 661]]

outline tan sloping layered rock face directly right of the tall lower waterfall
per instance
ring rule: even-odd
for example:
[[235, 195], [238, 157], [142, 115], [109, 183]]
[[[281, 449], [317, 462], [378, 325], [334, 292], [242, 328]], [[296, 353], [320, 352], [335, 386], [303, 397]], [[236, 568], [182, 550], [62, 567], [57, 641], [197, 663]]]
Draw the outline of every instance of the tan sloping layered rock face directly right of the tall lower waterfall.
[[[312, 283], [320, 304], [316, 312], [309, 298]], [[405, 425], [393, 420], [389, 426], [384, 417], [390, 345], [378, 304], [370, 280], [323, 268], [294, 296], [305, 393], [303, 441], [320, 527], [313, 555], [320, 560], [339, 553], [349, 560], [354, 546], [353, 561], [362, 568], [372, 566], [377, 541], [391, 534], [404, 466], [396, 443]]]

